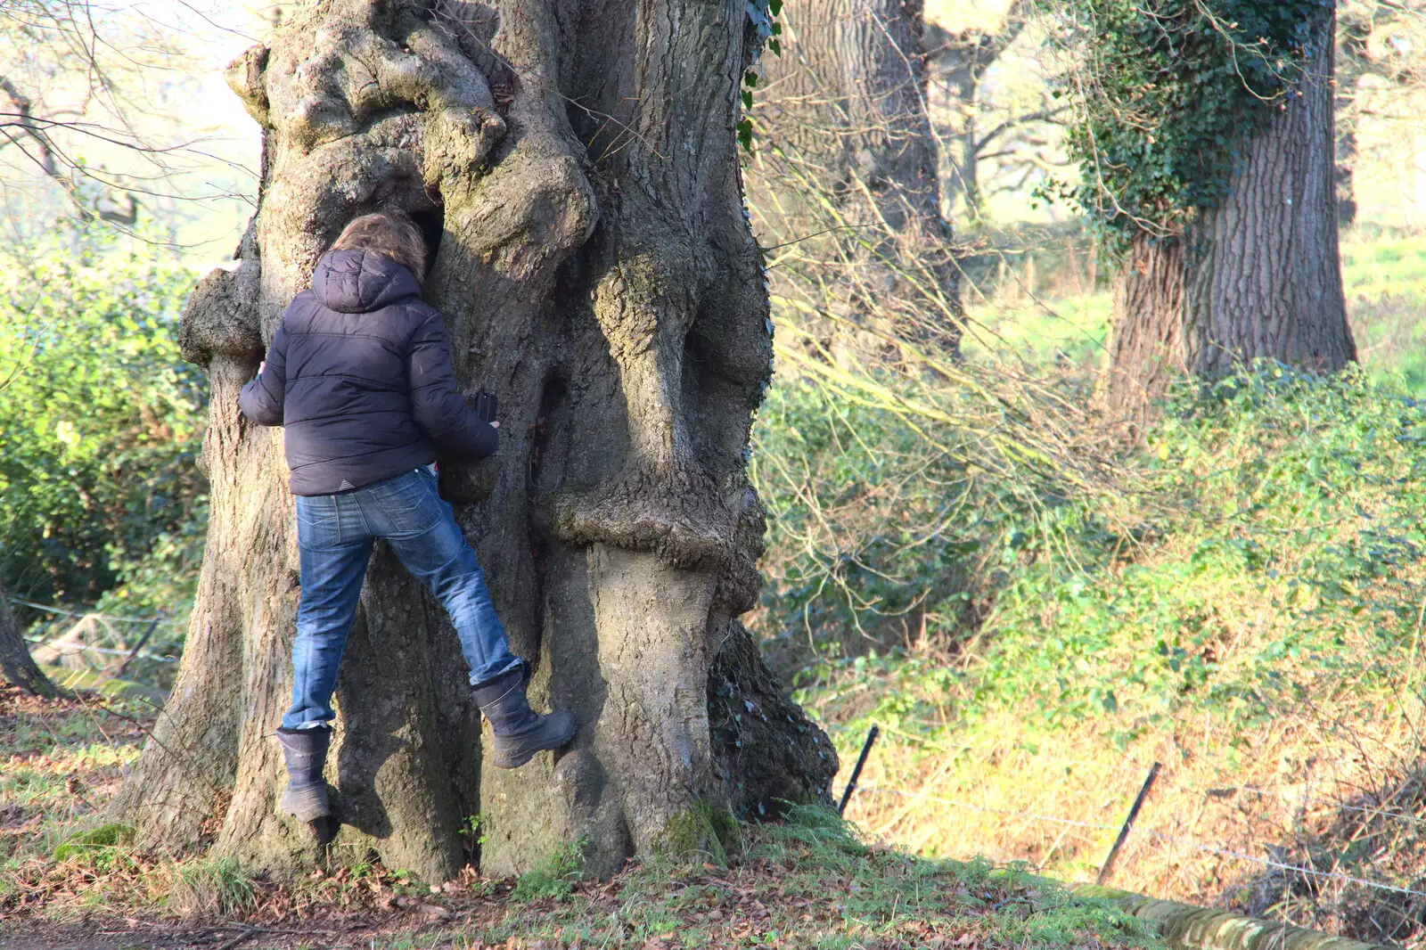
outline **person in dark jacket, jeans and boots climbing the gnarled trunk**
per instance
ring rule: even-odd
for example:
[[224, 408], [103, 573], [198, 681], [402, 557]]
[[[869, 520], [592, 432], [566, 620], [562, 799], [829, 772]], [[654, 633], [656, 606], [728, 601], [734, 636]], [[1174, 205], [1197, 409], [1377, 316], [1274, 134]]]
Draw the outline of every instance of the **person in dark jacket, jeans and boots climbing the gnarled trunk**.
[[575, 736], [568, 710], [540, 716], [526, 703], [530, 666], [511, 653], [485, 573], [436, 491], [438, 456], [493, 455], [499, 422], [465, 405], [445, 321], [421, 301], [425, 272], [421, 230], [405, 214], [348, 224], [240, 397], [254, 422], [285, 427], [292, 469], [302, 595], [292, 708], [278, 730], [291, 776], [279, 805], [304, 822], [331, 814], [331, 698], [376, 538], [451, 615], [495, 765], [515, 769]]

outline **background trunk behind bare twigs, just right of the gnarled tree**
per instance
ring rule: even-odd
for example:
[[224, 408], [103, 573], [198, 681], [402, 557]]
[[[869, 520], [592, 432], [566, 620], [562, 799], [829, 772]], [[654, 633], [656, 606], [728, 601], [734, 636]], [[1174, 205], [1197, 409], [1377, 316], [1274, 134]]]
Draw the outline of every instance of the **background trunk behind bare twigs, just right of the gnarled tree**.
[[955, 354], [958, 270], [927, 117], [920, 0], [800, 0], [754, 91], [749, 198], [813, 310]]

